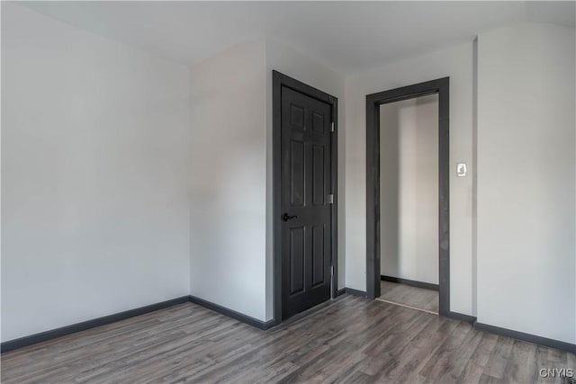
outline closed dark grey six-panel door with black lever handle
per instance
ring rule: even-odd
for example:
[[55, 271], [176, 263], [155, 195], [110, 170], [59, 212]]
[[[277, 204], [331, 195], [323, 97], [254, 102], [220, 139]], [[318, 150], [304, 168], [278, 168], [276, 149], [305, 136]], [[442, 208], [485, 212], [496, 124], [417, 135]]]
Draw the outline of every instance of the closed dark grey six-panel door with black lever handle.
[[282, 88], [283, 318], [330, 298], [330, 109]]

